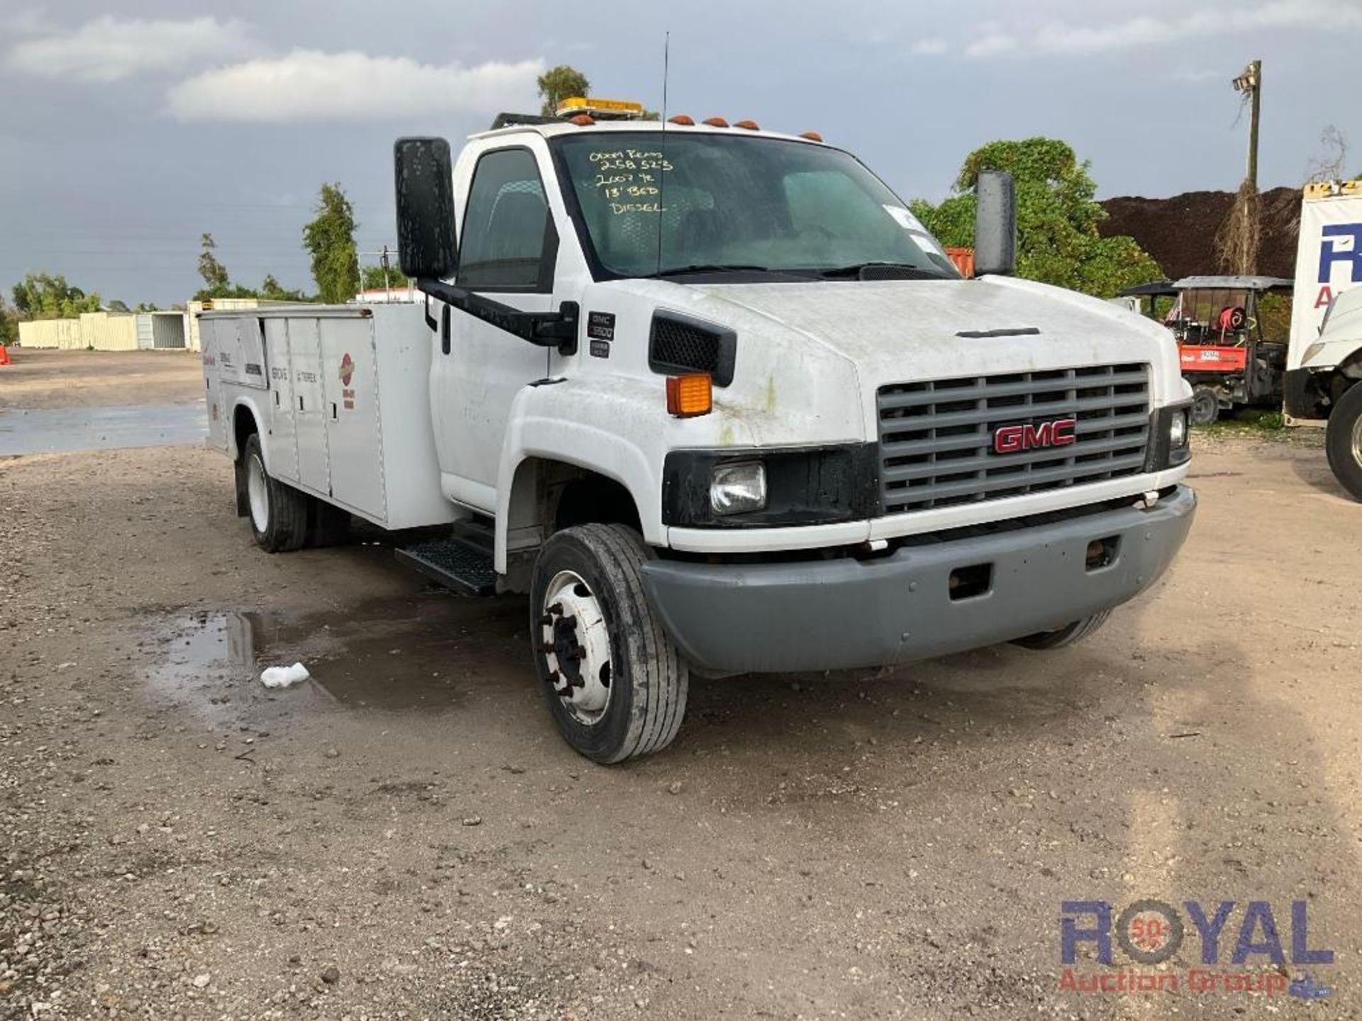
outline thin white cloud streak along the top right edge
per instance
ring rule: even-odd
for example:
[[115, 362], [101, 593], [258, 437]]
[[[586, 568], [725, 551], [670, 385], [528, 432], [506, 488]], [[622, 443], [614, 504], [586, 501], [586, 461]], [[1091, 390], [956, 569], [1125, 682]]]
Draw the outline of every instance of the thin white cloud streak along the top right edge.
[[1000, 54], [1094, 54], [1192, 39], [1222, 38], [1268, 29], [1337, 31], [1362, 26], [1362, 7], [1331, 0], [1268, 0], [1224, 10], [1203, 10], [1182, 16], [1130, 18], [1100, 26], [1049, 22], [1030, 34], [997, 31], [971, 44], [972, 57]]

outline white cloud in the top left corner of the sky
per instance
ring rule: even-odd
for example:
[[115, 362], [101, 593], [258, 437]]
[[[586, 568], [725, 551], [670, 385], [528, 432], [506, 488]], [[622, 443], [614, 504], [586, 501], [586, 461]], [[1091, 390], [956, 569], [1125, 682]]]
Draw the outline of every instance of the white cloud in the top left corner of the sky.
[[[42, 27], [33, 19], [27, 23]], [[144, 72], [181, 71], [249, 49], [248, 27], [237, 20], [120, 20], [105, 15], [74, 31], [23, 39], [11, 48], [7, 63], [38, 78], [118, 82]]]

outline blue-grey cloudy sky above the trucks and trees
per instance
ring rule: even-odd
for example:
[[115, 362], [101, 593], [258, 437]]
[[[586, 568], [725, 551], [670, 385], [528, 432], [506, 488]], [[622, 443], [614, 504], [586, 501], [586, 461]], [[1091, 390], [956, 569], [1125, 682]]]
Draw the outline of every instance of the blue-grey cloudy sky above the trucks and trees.
[[997, 137], [1051, 135], [1103, 196], [1238, 185], [1230, 88], [1264, 61], [1264, 187], [1336, 125], [1362, 169], [1362, 0], [0, 0], [0, 287], [64, 272], [184, 301], [199, 236], [237, 282], [312, 287], [321, 181], [364, 250], [394, 240], [391, 143], [535, 109], [545, 67], [598, 95], [816, 128], [900, 195], [941, 197]]

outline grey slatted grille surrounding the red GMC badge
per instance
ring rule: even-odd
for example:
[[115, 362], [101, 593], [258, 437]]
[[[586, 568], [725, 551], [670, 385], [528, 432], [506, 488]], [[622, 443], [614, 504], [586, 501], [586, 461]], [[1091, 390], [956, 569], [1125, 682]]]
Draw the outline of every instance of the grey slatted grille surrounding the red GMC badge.
[[[884, 513], [1002, 500], [1139, 475], [1150, 441], [1147, 365], [968, 376], [881, 387]], [[1011, 425], [1076, 418], [1076, 441], [994, 453]]]

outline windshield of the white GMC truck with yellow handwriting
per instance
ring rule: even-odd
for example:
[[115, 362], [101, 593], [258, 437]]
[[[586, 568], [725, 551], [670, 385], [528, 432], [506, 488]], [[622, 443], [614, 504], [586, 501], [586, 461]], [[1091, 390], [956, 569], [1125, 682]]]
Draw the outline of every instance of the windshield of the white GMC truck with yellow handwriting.
[[554, 150], [597, 276], [855, 278], [866, 264], [959, 276], [898, 196], [835, 148], [742, 135], [597, 132], [560, 136]]

